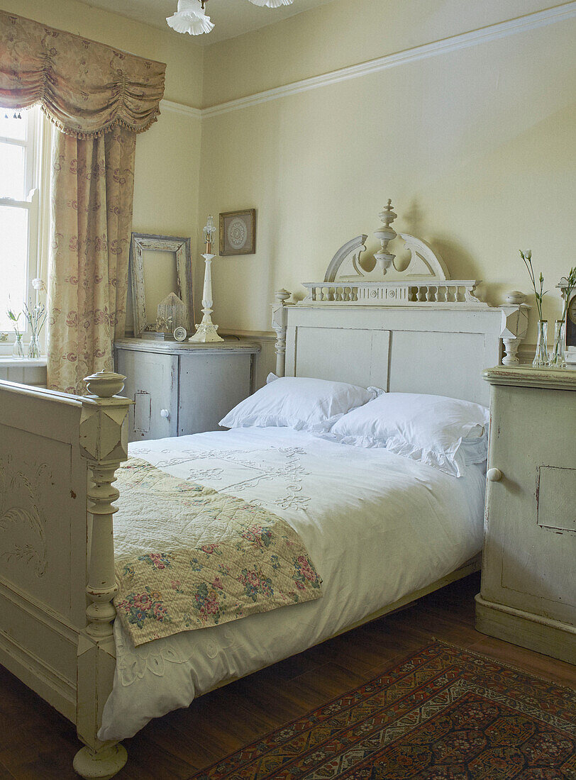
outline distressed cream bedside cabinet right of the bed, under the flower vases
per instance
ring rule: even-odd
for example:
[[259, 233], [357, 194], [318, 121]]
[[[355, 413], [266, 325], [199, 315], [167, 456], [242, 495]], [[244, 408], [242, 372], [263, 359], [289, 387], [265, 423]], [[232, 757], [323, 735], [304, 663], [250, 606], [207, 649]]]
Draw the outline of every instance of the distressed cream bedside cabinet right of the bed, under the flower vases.
[[504, 367], [490, 388], [476, 628], [576, 662], [576, 371]]

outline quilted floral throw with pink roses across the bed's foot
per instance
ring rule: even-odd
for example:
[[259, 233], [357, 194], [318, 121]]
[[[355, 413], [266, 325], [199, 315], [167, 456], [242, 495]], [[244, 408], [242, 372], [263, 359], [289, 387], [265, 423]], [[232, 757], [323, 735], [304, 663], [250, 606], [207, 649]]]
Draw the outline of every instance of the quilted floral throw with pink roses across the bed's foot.
[[137, 458], [117, 474], [114, 605], [134, 645], [322, 595], [299, 535], [267, 509]]

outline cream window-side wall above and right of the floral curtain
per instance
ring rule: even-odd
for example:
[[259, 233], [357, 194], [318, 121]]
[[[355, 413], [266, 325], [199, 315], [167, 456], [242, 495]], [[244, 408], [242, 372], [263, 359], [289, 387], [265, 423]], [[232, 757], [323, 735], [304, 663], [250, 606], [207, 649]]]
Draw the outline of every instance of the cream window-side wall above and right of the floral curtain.
[[[158, 30], [76, 0], [0, 0], [3, 10], [166, 63], [165, 99], [199, 105], [202, 48], [166, 28]], [[162, 107], [136, 143], [133, 230], [197, 236], [201, 120]], [[130, 314], [130, 313], [129, 313]], [[127, 319], [130, 327], [131, 319]]]

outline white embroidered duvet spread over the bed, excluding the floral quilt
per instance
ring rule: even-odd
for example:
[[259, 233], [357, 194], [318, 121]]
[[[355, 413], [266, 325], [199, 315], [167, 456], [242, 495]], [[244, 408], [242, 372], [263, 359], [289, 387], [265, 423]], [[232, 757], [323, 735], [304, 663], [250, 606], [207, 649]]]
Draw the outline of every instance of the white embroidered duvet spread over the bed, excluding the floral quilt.
[[[116, 675], [102, 740], [133, 736], [223, 680], [303, 651], [438, 580], [482, 547], [480, 466], [456, 478], [385, 449], [272, 427], [146, 441], [130, 445], [130, 455], [286, 519], [308, 548], [324, 595], [138, 648], [116, 621]], [[116, 540], [116, 550], [123, 544]]]

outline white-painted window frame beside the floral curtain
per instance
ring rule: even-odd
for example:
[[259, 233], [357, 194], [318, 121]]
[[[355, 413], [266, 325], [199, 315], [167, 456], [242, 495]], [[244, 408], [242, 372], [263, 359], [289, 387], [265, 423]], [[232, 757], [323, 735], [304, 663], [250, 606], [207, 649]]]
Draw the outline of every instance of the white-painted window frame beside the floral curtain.
[[[13, 111], [11, 108], [0, 107], [0, 111]], [[20, 111], [20, 109], [18, 109]], [[2, 144], [20, 146], [24, 149], [24, 191], [27, 197], [24, 200], [16, 200], [10, 197], [0, 197], [0, 206], [26, 209], [28, 211], [28, 236], [27, 236], [27, 268], [26, 268], [26, 297], [37, 302], [37, 291], [32, 286], [32, 279], [40, 275], [40, 247], [39, 247], [39, 222], [40, 222], [40, 187], [42, 172], [42, 148], [43, 148], [43, 122], [40, 106], [33, 106], [23, 113], [26, 114], [27, 133], [25, 140], [0, 136]], [[22, 302], [23, 303], [23, 302]], [[30, 328], [27, 321], [20, 319], [20, 332], [24, 339], [29, 339]], [[0, 329], [0, 355], [12, 354], [12, 346], [16, 340], [13, 329]]]

